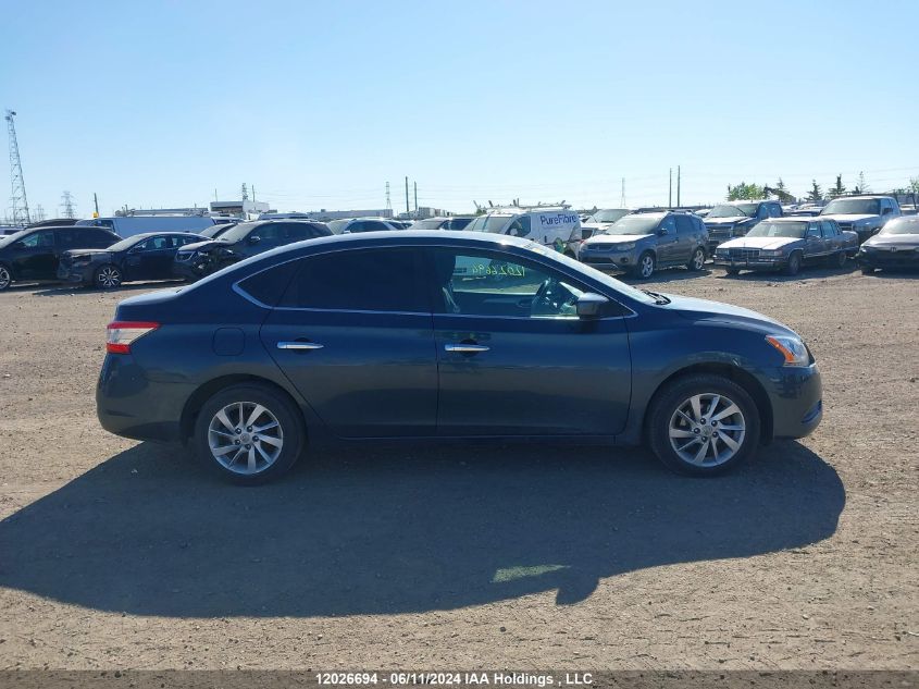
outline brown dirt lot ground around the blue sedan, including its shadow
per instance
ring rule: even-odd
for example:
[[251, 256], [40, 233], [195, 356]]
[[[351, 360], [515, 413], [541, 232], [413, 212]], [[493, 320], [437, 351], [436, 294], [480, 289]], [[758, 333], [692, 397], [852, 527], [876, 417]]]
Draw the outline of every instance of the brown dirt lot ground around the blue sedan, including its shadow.
[[97, 423], [151, 285], [0, 295], [0, 669], [919, 667], [919, 275], [660, 278], [805, 336], [811, 438], [717, 480], [451, 446], [233, 488]]

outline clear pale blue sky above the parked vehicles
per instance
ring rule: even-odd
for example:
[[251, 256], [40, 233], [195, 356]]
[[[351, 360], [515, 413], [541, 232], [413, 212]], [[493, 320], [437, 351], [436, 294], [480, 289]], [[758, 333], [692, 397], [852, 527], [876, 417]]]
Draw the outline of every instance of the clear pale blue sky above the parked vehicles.
[[[29, 205], [666, 204], [919, 176], [919, 3], [10, 0]], [[10, 19], [12, 17], [12, 21]], [[0, 174], [9, 188], [9, 171]], [[0, 210], [5, 210], [4, 190]], [[674, 192], [675, 201], [675, 192]]]

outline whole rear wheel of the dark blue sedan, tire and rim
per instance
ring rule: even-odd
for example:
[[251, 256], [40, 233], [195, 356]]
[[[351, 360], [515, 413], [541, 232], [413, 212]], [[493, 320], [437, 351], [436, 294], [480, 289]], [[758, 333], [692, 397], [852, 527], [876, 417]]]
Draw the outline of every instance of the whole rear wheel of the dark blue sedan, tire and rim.
[[285, 473], [303, 450], [299, 411], [270, 387], [226, 387], [201, 407], [195, 423], [198, 457], [224, 479], [254, 485]]

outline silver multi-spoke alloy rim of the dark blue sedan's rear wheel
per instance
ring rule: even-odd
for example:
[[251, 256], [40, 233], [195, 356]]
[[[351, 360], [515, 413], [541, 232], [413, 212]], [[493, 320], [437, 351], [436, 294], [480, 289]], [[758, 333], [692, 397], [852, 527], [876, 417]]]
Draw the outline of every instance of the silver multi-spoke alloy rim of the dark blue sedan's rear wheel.
[[211, 418], [208, 445], [224, 469], [251, 476], [277, 460], [284, 447], [284, 430], [264, 405], [234, 402]]

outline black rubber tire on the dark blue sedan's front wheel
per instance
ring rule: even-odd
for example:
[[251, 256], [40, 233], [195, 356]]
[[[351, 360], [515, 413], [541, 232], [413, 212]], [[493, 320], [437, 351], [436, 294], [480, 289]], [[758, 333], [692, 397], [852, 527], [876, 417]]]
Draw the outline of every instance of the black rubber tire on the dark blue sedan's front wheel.
[[[731, 431], [722, 431], [719, 436], [716, 435], [719, 428], [717, 426], [718, 421], [712, 423], [711, 419], [703, 418], [704, 421], [708, 422], [707, 429], [704, 430], [707, 435], [700, 435], [696, 433], [695, 429], [693, 429], [693, 432], [696, 433], [698, 441], [692, 436], [686, 436], [690, 438], [687, 441], [690, 443], [690, 448], [685, 452], [690, 454], [696, 453], [695, 447], [698, 447], [699, 451], [701, 451], [703, 440], [706, 441], [705, 444], [708, 447], [709, 442], [712, 441], [712, 435], [718, 438], [718, 441], [713, 441], [716, 452], [712, 453], [712, 462], [710, 463], [708, 463], [708, 450], [706, 450], [706, 455], [703, 457], [701, 463], [693, 464], [681, 456], [671, 443], [671, 421], [675, 420], [675, 422], [682, 423], [679, 417], [679, 410], [695, 395], [711, 396], [711, 398], [708, 399], [708, 402], [711, 403], [715, 403], [715, 396], [719, 396], [720, 399], [716, 404], [719, 404], [720, 406], [716, 416], [720, 415], [721, 411], [730, 410], [731, 407], [728, 404], [729, 402], [733, 403], [740, 410], [740, 416], [737, 414], [733, 414], [724, 417], [724, 419], [733, 419], [734, 425], [743, 427], [742, 431], [733, 430], [734, 426], [732, 425]], [[706, 408], [703, 407], [701, 411], [705, 414]], [[756, 453], [760, 433], [759, 409], [749, 393], [732, 380], [718, 374], [690, 374], [669, 383], [667, 387], [661, 390], [655, 396], [655, 399], [648, 409], [646, 431], [648, 445], [650, 446], [651, 452], [657, 455], [658, 459], [660, 459], [667, 468], [687, 476], [717, 476], [719, 473], [730, 471]], [[674, 432], [685, 431], [674, 429]], [[738, 447], [732, 451], [733, 455], [730, 455], [719, 462], [716, 459], [717, 454], [719, 454], [717, 451], [717, 442], [721, 442], [722, 446], [728, 448], [724, 452], [730, 451], [730, 447], [723, 440], [725, 433], [733, 433], [733, 435], [729, 435], [729, 438], [732, 442], [735, 442]], [[673, 442], [682, 443], [683, 441], [682, 439], [674, 439]], [[697, 445], [692, 445], [692, 443], [697, 443]]]

